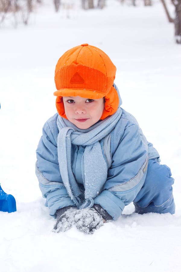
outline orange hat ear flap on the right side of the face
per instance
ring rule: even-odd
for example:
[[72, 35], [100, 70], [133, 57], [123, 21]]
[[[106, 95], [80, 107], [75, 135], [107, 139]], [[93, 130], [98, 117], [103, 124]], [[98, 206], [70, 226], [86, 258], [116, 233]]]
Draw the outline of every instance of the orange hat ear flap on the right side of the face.
[[113, 86], [110, 88], [109, 92], [106, 94], [104, 99], [105, 99], [104, 110], [100, 120], [103, 120], [106, 117], [113, 115], [117, 111], [119, 106], [119, 96], [116, 89]]

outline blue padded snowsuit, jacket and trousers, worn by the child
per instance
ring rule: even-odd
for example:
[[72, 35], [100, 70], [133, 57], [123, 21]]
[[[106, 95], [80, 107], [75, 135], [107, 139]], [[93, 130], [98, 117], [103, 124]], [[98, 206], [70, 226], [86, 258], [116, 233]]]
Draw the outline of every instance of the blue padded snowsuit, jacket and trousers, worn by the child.
[[[63, 207], [75, 206], [59, 171], [57, 117], [58, 113], [43, 126], [43, 135], [36, 151], [36, 175], [50, 215]], [[135, 205], [135, 211], [141, 214], [175, 212], [172, 193], [174, 179], [170, 168], [159, 164], [157, 150], [147, 142], [131, 114], [122, 109], [116, 127], [100, 144], [108, 171], [102, 191], [94, 198], [95, 204], [102, 206], [114, 220], [131, 202]], [[83, 146], [72, 145], [71, 168], [81, 189], [84, 189], [81, 172], [83, 153]]]

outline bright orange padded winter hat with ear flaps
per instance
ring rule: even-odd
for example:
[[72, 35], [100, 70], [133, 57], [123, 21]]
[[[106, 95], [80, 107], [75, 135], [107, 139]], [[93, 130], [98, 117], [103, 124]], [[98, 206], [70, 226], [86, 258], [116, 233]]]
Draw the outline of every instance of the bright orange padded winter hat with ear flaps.
[[66, 51], [55, 68], [54, 92], [56, 108], [64, 118], [63, 96], [81, 96], [89, 99], [105, 98], [101, 120], [116, 112], [119, 96], [113, 87], [116, 67], [99, 48], [81, 44]]

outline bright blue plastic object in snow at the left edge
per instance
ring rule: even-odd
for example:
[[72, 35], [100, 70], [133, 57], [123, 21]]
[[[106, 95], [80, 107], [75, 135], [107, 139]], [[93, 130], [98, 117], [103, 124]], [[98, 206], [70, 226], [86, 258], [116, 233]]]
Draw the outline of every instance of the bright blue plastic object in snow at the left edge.
[[14, 196], [6, 194], [0, 185], [0, 211], [16, 212], [16, 200]]

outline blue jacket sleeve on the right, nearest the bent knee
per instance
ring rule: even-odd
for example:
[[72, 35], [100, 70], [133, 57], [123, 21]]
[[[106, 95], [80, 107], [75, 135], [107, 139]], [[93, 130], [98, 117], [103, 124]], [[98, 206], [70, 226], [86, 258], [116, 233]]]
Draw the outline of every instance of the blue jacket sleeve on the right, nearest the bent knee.
[[[115, 144], [116, 141], [119, 143]], [[116, 220], [144, 184], [148, 144], [137, 124], [125, 126], [122, 135], [119, 130], [115, 131], [111, 142], [114, 143], [111, 145], [112, 164], [103, 191], [94, 203], [102, 206]]]

